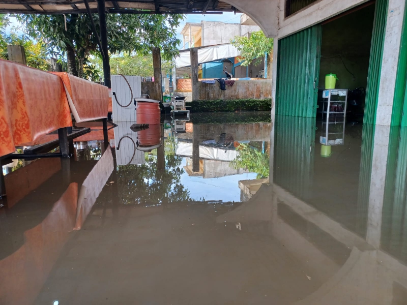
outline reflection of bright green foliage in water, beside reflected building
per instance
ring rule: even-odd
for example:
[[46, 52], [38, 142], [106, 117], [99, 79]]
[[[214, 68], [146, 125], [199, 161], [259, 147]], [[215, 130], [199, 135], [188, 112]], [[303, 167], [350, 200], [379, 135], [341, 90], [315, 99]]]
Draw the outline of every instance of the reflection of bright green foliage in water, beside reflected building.
[[262, 154], [246, 143], [240, 144], [237, 149], [239, 150], [239, 156], [231, 162], [234, 168], [245, 168], [248, 171], [257, 173], [257, 179], [263, 179], [269, 176], [270, 166], [268, 154]]

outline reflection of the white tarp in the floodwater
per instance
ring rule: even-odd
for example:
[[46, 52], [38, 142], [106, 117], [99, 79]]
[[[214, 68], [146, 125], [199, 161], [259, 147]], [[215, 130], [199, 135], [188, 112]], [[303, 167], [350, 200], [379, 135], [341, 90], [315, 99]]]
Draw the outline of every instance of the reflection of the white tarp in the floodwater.
[[[176, 155], [192, 157], [192, 143], [178, 142]], [[239, 156], [237, 150], [221, 149], [199, 145], [199, 158], [219, 160], [219, 161], [232, 161]]]

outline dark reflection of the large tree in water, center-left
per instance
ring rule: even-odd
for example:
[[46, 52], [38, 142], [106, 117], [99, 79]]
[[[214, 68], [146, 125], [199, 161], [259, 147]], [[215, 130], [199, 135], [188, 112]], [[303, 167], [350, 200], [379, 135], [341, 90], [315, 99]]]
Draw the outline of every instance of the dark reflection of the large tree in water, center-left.
[[123, 203], [148, 205], [193, 201], [189, 191], [180, 183], [184, 170], [178, 166], [182, 158], [166, 156], [165, 169], [160, 171], [157, 157], [147, 156], [145, 164], [119, 166], [118, 191]]

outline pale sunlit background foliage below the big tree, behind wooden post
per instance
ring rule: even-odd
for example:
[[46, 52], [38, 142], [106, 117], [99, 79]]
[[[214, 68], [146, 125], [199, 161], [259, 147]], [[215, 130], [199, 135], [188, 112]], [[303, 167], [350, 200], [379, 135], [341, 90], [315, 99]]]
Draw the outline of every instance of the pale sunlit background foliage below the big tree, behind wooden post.
[[[93, 57], [90, 63], [95, 65], [96, 69], [103, 71], [102, 58]], [[162, 60], [161, 68], [163, 75], [171, 73], [171, 62]], [[137, 75], [142, 77], [153, 76], [153, 56], [151, 54], [147, 56], [142, 55], [128, 55], [120, 54], [110, 57], [110, 73], [113, 75]]]

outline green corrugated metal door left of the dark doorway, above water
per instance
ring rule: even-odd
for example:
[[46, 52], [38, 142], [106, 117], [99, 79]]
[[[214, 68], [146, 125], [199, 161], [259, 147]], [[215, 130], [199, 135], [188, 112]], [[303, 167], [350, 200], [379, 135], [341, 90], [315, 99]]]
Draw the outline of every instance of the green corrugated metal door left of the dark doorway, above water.
[[316, 116], [321, 38], [318, 24], [278, 42], [276, 114]]

